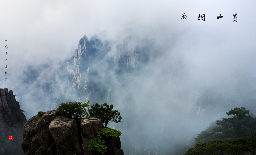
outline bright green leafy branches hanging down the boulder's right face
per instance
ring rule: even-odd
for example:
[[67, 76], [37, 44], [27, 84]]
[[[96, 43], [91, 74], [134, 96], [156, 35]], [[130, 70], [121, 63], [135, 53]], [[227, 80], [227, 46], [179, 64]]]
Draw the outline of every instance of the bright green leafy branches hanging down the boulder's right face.
[[88, 150], [95, 150], [97, 152], [101, 152], [102, 154], [104, 154], [107, 151], [107, 147], [105, 145], [105, 141], [102, 140], [101, 138], [103, 136], [117, 137], [121, 136], [121, 134], [122, 133], [119, 130], [103, 128], [101, 129], [101, 131], [97, 133], [96, 138], [90, 140], [90, 142], [88, 143]]

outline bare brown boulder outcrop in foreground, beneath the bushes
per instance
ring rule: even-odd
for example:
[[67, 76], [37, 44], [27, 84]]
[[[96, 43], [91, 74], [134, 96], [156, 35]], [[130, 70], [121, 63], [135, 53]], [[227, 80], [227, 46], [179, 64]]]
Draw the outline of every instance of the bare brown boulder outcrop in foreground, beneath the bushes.
[[[24, 126], [22, 148], [25, 155], [100, 155], [88, 151], [88, 143], [103, 128], [100, 120], [71, 119], [47, 111], [32, 117]], [[106, 155], [123, 155], [119, 137], [103, 137]]]

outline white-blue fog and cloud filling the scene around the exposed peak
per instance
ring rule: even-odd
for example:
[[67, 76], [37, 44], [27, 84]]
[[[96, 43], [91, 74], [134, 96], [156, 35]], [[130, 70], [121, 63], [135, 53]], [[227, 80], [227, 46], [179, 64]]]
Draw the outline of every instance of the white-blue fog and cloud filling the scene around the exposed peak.
[[[111, 89], [109, 104], [123, 117], [110, 127], [123, 132], [124, 153], [179, 152], [177, 148], [191, 147], [193, 138], [211, 121], [225, 117], [223, 112], [246, 105], [255, 109], [242, 96], [241, 101], [213, 108], [222, 109], [219, 118], [214, 112], [197, 116], [194, 110], [209, 89], [223, 95], [239, 83], [255, 80], [254, 6], [252, 0], [1, 1], [0, 87], [17, 94], [27, 119], [61, 102], [86, 102], [88, 94], [81, 97], [67, 81], [80, 38], [96, 35], [109, 41], [110, 49], [90, 66], [97, 73], [90, 78], [109, 82], [104, 84]], [[184, 13], [186, 20], [181, 20]], [[197, 20], [199, 14], [205, 14], [205, 21]], [[217, 19], [220, 14], [223, 18]], [[120, 52], [121, 45], [123, 51], [144, 50], [152, 56], [148, 63], [138, 61], [136, 72], [123, 73], [122, 82], [115, 73], [117, 66], [106, 63], [126, 54]], [[249, 86], [234, 94], [249, 92]], [[254, 88], [255, 82], [252, 92]], [[107, 102], [89, 99], [92, 104]]]

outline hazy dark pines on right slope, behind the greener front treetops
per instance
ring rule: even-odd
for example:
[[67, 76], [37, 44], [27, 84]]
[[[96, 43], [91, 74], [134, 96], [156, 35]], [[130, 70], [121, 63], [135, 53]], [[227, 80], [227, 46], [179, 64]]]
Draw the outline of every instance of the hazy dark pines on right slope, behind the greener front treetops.
[[249, 115], [249, 110], [242, 108], [234, 108], [227, 115], [231, 118], [222, 118], [217, 120], [216, 125], [212, 124], [208, 129], [202, 131], [195, 138], [196, 143], [206, 142], [213, 139], [229, 139], [242, 136], [253, 136], [256, 134], [256, 117]]

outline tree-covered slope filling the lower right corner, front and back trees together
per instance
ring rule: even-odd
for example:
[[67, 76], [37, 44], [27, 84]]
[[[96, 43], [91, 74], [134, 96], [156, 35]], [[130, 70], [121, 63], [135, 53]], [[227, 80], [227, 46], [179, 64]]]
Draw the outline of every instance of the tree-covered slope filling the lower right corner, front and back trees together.
[[226, 112], [231, 117], [198, 134], [185, 155], [256, 155], [256, 117], [249, 112], [244, 107]]

